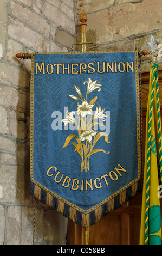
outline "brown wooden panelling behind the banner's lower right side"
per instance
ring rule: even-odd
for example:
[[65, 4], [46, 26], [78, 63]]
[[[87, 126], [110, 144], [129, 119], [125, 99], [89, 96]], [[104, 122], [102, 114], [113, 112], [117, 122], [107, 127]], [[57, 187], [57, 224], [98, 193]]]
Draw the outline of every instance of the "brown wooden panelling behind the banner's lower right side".
[[[146, 109], [150, 72], [141, 74], [142, 149], [145, 152]], [[159, 71], [159, 94], [162, 106], [162, 70]], [[162, 113], [162, 111], [161, 111]], [[144, 155], [144, 154], [143, 154]], [[144, 157], [143, 157], [144, 159]], [[109, 213], [89, 229], [90, 245], [139, 245], [142, 192], [119, 209]], [[85, 229], [68, 220], [68, 245], [85, 245]]]

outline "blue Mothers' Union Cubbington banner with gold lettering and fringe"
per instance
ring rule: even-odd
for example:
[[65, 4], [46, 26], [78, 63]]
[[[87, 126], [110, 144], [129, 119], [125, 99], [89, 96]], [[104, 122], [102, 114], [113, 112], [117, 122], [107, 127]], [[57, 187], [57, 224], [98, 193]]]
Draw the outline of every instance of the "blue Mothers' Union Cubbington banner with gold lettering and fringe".
[[140, 190], [138, 53], [31, 59], [31, 194], [88, 227]]

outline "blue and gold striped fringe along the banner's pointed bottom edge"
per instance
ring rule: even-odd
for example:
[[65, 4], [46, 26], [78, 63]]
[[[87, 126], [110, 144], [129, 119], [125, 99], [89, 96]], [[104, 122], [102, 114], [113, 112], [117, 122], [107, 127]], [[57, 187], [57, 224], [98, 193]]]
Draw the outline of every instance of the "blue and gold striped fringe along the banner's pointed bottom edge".
[[90, 227], [90, 225], [98, 222], [102, 217], [107, 215], [109, 212], [118, 209], [122, 204], [126, 203], [135, 194], [140, 193], [141, 190], [141, 180], [138, 180], [135, 184], [128, 187], [125, 191], [122, 191], [116, 197], [112, 198], [108, 202], [102, 204], [92, 212], [88, 214], [82, 214], [79, 210], [74, 209], [61, 200], [55, 198], [48, 192], [44, 191], [39, 186], [31, 182], [30, 194], [39, 199], [42, 203], [47, 204], [57, 212], [60, 212], [64, 217], [68, 217], [71, 221], [77, 223], [83, 228]]

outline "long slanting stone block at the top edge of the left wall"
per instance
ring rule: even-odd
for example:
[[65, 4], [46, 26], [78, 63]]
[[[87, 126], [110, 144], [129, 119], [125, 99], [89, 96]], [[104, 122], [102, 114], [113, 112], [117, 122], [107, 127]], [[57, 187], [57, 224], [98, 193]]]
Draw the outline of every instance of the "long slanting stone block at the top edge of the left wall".
[[[28, 8], [24, 8], [22, 5], [11, 1], [9, 13], [18, 17], [21, 21], [28, 24], [28, 26], [33, 27], [37, 31], [49, 37], [50, 27], [49, 24], [43, 17], [38, 16], [33, 11]], [[23, 29], [23, 28], [22, 28]]]

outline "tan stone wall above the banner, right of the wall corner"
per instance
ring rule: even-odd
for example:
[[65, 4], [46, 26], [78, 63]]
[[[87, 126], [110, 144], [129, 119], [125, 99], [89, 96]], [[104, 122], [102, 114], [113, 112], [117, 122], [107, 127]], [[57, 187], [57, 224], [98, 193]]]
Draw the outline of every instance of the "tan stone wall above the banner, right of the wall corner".
[[[77, 42], [79, 17], [87, 14], [87, 42], [99, 51], [147, 50], [151, 34], [162, 44], [161, 0], [77, 0]], [[87, 49], [88, 50], [88, 49]], [[150, 56], [142, 57], [142, 71], [150, 70]], [[162, 68], [162, 58], [158, 58]]]

